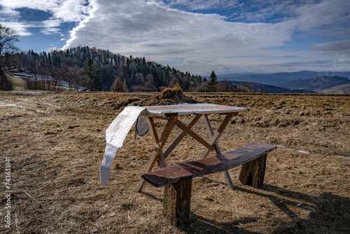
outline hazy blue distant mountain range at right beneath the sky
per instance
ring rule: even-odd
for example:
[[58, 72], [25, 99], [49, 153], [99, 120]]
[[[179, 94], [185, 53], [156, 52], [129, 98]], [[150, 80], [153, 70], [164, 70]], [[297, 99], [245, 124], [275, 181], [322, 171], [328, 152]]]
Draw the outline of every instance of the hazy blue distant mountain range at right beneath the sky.
[[[290, 92], [323, 92], [323, 93], [350, 93], [350, 71], [319, 72], [297, 71], [279, 72], [274, 74], [221, 74], [218, 80], [246, 81], [273, 85], [271, 87], [260, 85], [263, 92], [286, 92], [281, 88], [290, 89]], [[277, 87], [275, 87], [277, 86]], [[275, 88], [274, 88], [275, 87]], [[267, 89], [267, 90], [265, 90]], [[299, 90], [299, 91], [298, 91]], [[309, 91], [308, 91], [309, 90]]]

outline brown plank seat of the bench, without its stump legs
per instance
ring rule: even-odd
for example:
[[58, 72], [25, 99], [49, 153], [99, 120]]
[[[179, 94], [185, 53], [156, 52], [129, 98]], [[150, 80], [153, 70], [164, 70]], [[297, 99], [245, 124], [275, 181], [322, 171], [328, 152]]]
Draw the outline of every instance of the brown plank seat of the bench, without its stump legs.
[[246, 146], [211, 158], [181, 163], [143, 174], [142, 177], [154, 186], [173, 184], [181, 179], [200, 177], [205, 174], [229, 170], [265, 155], [276, 146], [262, 142], [251, 142]]

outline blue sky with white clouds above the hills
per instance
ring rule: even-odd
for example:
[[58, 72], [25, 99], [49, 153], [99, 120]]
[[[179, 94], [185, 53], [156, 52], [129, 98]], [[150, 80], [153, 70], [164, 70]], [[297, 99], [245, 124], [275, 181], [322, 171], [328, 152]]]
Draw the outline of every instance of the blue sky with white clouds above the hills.
[[349, 0], [0, 0], [24, 51], [90, 46], [191, 74], [350, 71]]

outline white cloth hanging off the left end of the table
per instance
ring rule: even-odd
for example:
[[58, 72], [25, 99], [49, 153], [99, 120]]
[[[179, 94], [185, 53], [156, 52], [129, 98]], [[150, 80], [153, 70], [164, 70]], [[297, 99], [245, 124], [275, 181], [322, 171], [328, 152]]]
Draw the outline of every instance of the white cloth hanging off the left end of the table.
[[99, 165], [99, 175], [103, 185], [106, 185], [109, 181], [112, 162], [114, 157], [116, 157], [118, 148], [123, 146], [127, 133], [130, 131], [132, 125], [144, 109], [146, 108], [141, 106], [125, 107], [125, 109], [114, 119], [111, 125], [109, 125], [109, 128], [107, 128], [106, 151], [104, 152], [104, 160], [102, 160], [101, 165]]

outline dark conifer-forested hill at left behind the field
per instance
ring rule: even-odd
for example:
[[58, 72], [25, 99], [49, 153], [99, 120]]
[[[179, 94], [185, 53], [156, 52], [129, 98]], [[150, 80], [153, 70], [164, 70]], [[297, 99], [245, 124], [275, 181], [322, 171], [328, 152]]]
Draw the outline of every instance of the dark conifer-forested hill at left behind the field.
[[[87, 67], [89, 57], [92, 67]], [[25, 69], [30, 74], [47, 75], [72, 83], [73, 87], [85, 86], [90, 90], [109, 91], [115, 79], [123, 83], [130, 91], [157, 91], [163, 87], [180, 83], [183, 90], [195, 90], [201, 83], [201, 76], [178, 71], [169, 65], [146, 61], [145, 57], [125, 57], [109, 50], [100, 50], [88, 46], [78, 46], [67, 50], [52, 50], [49, 53], [19, 53], [15, 58], [15, 67]], [[87, 69], [94, 73], [95, 81], [87, 77]], [[72, 77], [74, 76], [74, 77]], [[95, 83], [97, 88], [94, 89]], [[98, 88], [98, 85], [99, 88]]]

